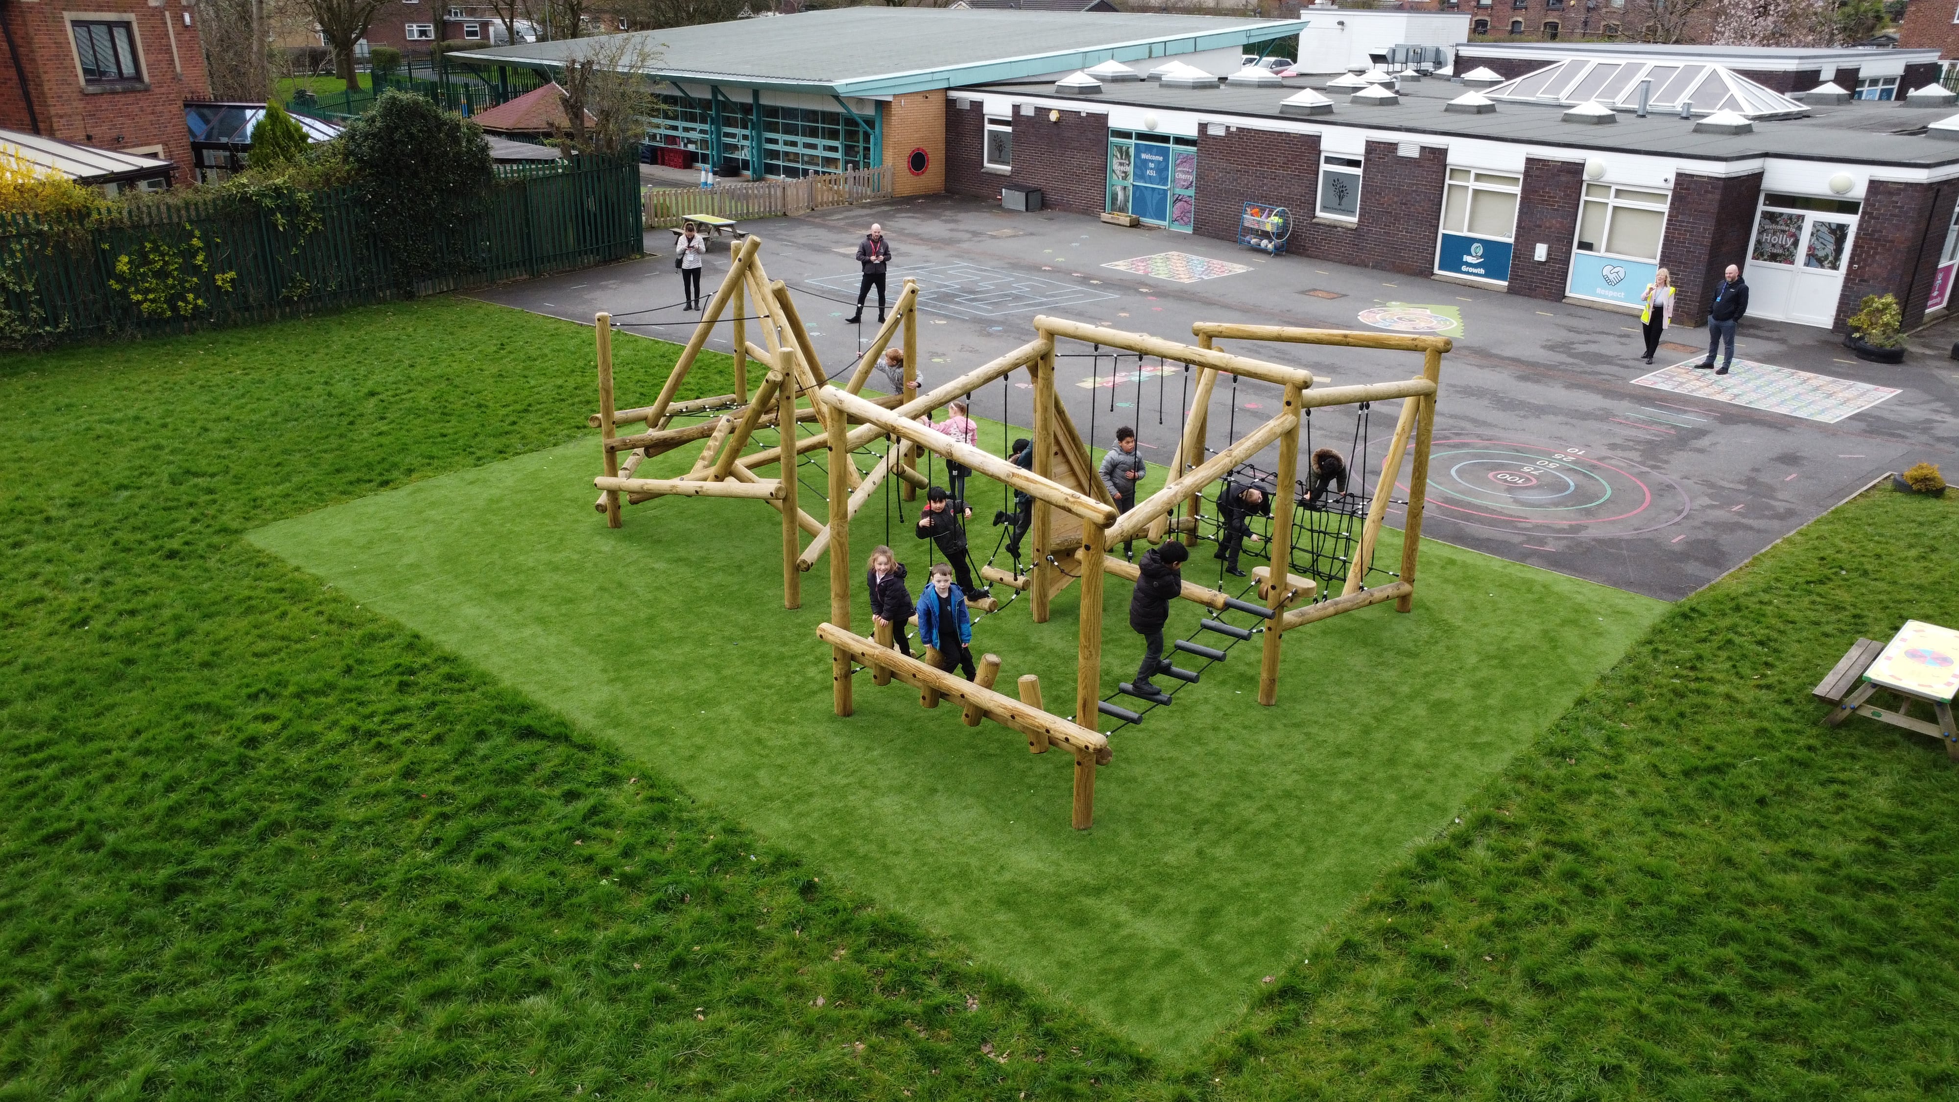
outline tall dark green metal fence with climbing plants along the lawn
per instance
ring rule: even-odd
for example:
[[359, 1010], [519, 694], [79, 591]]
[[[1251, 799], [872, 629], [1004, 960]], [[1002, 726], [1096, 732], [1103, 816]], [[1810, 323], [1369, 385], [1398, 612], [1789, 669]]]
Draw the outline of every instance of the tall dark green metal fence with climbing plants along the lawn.
[[233, 326], [539, 276], [639, 255], [639, 167], [574, 157], [498, 167], [478, 214], [404, 286], [355, 188], [268, 210], [190, 194], [88, 227], [0, 216], [0, 345]]

